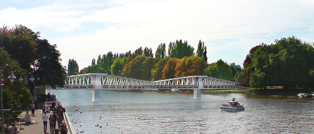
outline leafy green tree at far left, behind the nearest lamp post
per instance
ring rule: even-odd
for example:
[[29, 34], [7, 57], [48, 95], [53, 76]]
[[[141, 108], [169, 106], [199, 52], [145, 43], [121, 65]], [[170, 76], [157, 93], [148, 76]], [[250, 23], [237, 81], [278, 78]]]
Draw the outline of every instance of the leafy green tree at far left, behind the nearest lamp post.
[[[13, 60], [9, 57], [7, 51], [0, 47], [0, 67], [3, 69], [4, 65], [9, 64], [13, 68], [14, 75], [19, 77], [23, 72], [26, 73], [25, 69], [20, 68], [18, 61]], [[11, 109], [9, 112], [4, 112], [4, 120], [13, 120], [22, 113], [21, 109], [25, 106], [29, 106], [32, 102], [31, 94], [26, 89], [26, 81], [19, 82], [15, 80], [10, 82], [7, 78], [10, 75], [11, 67], [5, 66], [3, 73], [3, 109]], [[22, 75], [23, 76], [23, 75]], [[24, 76], [23, 76], [24, 78]], [[10, 123], [10, 122], [6, 122]]]

